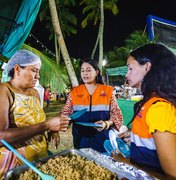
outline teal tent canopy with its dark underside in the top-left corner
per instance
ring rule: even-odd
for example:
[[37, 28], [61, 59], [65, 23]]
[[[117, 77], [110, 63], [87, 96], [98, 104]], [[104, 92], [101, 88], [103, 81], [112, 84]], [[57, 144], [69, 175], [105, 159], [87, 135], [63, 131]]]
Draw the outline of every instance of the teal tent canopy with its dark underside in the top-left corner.
[[0, 55], [10, 58], [24, 43], [42, 0], [0, 1]]

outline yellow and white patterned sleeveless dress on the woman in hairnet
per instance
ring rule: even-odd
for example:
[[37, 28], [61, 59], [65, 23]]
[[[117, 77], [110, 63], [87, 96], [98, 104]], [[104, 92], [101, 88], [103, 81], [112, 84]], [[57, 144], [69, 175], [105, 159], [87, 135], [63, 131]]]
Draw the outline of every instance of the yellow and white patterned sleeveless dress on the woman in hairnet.
[[[9, 128], [27, 127], [45, 121], [46, 115], [40, 106], [35, 89], [32, 90], [33, 95], [28, 96], [14, 92], [10, 84], [4, 84], [9, 88], [14, 99], [9, 112]], [[44, 134], [36, 135], [14, 147], [29, 161], [36, 161], [47, 156], [47, 141]], [[0, 179], [3, 179], [8, 170], [22, 164], [11, 151], [5, 147], [0, 148]]]

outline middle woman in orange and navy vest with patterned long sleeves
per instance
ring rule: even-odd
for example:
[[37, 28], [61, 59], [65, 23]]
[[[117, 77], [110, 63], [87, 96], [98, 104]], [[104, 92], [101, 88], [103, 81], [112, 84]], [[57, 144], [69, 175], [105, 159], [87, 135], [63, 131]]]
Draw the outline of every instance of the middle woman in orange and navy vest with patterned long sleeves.
[[[87, 108], [87, 112], [73, 121], [74, 147], [93, 148], [106, 152], [103, 143], [109, 139], [109, 129], [117, 130], [122, 125], [122, 114], [118, 107], [113, 87], [104, 85], [98, 64], [93, 59], [81, 61], [81, 85], [72, 89], [61, 115]], [[76, 121], [100, 124], [101, 128], [86, 127], [76, 124]]]

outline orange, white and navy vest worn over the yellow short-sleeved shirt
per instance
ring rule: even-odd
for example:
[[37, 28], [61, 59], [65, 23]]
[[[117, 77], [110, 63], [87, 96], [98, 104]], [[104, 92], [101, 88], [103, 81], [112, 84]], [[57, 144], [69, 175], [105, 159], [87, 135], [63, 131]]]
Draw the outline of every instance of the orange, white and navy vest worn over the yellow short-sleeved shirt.
[[153, 97], [147, 101], [132, 122], [131, 130], [131, 162], [162, 171], [156, 146], [149, 127], [146, 123], [146, 114], [149, 107], [157, 101], [168, 102], [166, 99]]

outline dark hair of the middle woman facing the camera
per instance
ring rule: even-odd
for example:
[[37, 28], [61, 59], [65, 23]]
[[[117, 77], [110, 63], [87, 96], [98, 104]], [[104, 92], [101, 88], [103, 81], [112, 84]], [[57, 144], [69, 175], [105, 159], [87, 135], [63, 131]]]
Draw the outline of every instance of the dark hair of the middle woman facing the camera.
[[[102, 76], [101, 76], [101, 72], [100, 72], [100, 69], [98, 67], [98, 63], [96, 60], [94, 59], [91, 59], [91, 58], [85, 58], [85, 59], [82, 59], [80, 61], [80, 67], [82, 66], [83, 63], [88, 63], [90, 64], [94, 69], [95, 71], [98, 70], [98, 75], [97, 75], [97, 78], [96, 78], [96, 82], [99, 83], [99, 84], [104, 84], [103, 83], [103, 80], [102, 80]], [[83, 80], [81, 79], [80, 81], [80, 84], [84, 84]]]

